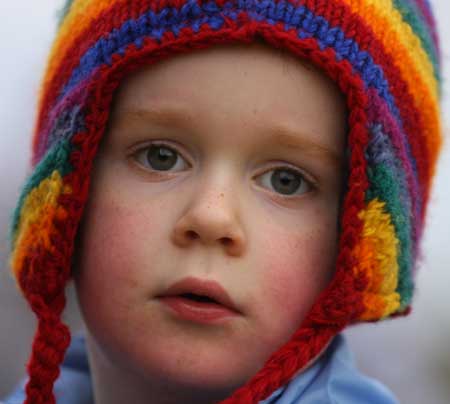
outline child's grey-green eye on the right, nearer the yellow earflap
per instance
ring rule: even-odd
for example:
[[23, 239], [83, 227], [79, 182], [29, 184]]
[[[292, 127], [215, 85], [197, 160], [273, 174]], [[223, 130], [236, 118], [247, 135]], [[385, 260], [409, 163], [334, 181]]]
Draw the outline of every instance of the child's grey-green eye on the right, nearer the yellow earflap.
[[261, 178], [264, 186], [272, 187], [277, 193], [287, 196], [303, 194], [314, 188], [302, 172], [291, 167], [275, 167], [266, 171]]

